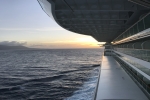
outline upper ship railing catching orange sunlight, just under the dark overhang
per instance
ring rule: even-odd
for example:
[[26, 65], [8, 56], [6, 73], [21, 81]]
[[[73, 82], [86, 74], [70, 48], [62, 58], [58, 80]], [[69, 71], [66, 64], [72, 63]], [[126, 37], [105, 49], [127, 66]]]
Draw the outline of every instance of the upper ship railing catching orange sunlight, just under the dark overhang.
[[150, 13], [145, 15], [113, 40], [113, 44], [121, 44], [148, 36], [150, 36]]

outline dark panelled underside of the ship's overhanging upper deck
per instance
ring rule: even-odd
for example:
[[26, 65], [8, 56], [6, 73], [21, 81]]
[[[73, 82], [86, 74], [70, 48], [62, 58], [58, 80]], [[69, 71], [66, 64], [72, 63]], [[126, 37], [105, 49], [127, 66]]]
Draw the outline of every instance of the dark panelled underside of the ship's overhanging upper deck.
[[128, 0], [47, 0], [63, 28], [111, 42], [150, 9]]

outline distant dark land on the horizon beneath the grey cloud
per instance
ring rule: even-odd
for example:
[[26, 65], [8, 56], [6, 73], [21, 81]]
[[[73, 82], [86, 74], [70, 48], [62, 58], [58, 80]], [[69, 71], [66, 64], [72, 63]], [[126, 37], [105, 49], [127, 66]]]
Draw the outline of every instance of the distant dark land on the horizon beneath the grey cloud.
[[6, 45], [0, 45], [0, 50], [25, 50], [30, 49], [25, 46], [6, 46]]

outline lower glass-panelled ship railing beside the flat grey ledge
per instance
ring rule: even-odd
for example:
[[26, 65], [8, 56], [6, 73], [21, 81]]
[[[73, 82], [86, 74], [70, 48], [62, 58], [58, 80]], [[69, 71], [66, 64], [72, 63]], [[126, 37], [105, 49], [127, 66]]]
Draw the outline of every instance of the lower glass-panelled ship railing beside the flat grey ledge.
[[150, 96], [150, 63], [115, 50], [113, 56]]

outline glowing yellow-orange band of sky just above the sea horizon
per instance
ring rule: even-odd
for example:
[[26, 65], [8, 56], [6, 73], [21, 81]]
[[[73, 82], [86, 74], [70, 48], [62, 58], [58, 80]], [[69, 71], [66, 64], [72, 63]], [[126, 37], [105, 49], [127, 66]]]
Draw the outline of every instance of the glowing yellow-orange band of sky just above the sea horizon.
[[97, 42], [91, 36], [74, 38], [73, 40], [41, 41], [39, 43], [27, 43], [31, 48], [100, 48], [105, 42]]

